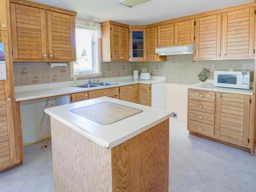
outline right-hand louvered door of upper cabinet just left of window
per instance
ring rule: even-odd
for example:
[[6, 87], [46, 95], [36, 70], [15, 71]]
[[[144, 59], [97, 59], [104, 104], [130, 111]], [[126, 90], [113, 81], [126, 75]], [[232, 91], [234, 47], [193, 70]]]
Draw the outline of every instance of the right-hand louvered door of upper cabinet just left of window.
[[75, 17], [47, 11], [49, 58], [76, 60]]

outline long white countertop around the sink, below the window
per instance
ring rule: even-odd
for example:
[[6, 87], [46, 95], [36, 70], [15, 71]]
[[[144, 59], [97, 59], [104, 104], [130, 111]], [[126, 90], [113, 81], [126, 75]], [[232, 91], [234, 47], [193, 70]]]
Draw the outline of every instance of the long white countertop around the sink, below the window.
[[[60, 83], [47, 83], [47, 84], [38, 84], [32, 86], [19, 86], [15, 87], [15, 98], [16, 101], [26, 101], [31, 99], [39, 99], [45, 97], [53, 97], [58, 95], [67, 95], [70, 93], [79, 93], [83, 91], [92, 91], [92, 90], [99, 90], [99, 89], [106, 89], [106, 88], [113, 88], [113, 87], [120, 87], [126, 86], [129, 84], [152, 84], [165, 81], [165, 78], [156, 77], [155, 79], [151, 80], [133, 80], [131, 76], [129, 77], [120, 77], [120, 78], [105, 78], [101, 79], [104, 82], [114, 82], [118, 83], [113, 86], [100, 86], [95, 88], [78, 88], [72, 87], [72, 81], [69, 82], [60, 82]], [[87, 83], [86, 80], [80, 80], [77, 84], [84, 84]]]

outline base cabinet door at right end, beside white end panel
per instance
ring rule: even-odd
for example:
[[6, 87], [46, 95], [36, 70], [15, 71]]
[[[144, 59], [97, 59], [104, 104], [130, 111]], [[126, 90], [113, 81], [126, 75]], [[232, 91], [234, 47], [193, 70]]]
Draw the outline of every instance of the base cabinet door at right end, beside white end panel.
[[139, 104], [151, 106], [151, 84], [139, 84]]

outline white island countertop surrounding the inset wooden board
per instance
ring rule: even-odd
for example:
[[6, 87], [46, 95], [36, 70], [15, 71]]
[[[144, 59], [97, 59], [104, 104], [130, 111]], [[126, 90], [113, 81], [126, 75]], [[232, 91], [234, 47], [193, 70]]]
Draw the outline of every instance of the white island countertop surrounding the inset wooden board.
[[[130, 106], [132, 108], [143, 110], [143, 112], [110, 125], [101, 125], [70, 111], [74, 108], [80, 108], [82, 106], [96, 104], [104, 101], [110, 101]], [[109, 97], [100, 97], [61, 106], [55, 106], [53, 108], [45, 109], [45, 112], [63, 124], [71, 127], [71, 129], [75, 130], [76, 132], [86, 136], [99, 145], [108, 148], [113, 148], [116, 145], [131, 139], [132, 137], [173, 116], [173, 113], [168, 111]]]

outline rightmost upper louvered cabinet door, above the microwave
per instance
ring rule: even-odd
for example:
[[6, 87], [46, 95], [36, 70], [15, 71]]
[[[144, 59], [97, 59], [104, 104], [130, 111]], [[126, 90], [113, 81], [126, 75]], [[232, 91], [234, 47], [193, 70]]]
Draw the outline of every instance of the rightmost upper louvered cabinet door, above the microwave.
[[222, 57], [253, 58], [254, 8], [222, 14]]

